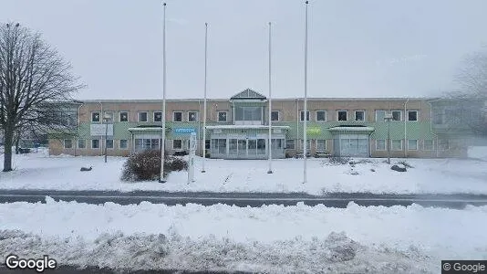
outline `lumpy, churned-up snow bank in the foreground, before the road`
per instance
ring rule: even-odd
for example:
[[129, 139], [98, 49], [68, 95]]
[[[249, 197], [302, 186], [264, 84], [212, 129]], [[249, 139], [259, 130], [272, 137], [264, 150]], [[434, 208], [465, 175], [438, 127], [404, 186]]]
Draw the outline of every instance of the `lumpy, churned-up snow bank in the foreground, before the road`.
[[0, 254], [128, 269], [439, 272], [487, 259], [487, 206], [0, 205]]

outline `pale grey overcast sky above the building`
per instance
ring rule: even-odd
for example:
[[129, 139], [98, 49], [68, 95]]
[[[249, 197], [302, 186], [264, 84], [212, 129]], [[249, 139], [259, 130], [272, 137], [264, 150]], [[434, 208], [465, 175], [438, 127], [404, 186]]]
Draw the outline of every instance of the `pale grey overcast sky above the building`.
[[[0, 21], [42, 32], [88, 88], [78, 99], [158, 99], [158, 0], [2, 1]], [[208, 97], [267, 90], [304, 96], [305, 5], [300, 0], [168, 0], [168, 98], [202, 98], [204, 22]], [[487, 44], [485, 0], [315, 0], [309, 5], [309, 97], [418, 97], [451, 89], [462, 56]]]

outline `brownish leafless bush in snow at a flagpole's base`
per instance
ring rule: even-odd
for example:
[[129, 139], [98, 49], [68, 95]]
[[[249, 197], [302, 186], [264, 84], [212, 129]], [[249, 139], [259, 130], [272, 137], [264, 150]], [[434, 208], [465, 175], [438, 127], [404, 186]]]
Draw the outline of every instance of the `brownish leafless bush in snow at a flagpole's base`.
[[[181, 158], [164, 155], [164, 177], [172, 171], [188, 169], [188, 163]], [[161, 176], [161, 152], [136, 153], [127, 159], [122, 168], [122, 181], [159, 180]]]

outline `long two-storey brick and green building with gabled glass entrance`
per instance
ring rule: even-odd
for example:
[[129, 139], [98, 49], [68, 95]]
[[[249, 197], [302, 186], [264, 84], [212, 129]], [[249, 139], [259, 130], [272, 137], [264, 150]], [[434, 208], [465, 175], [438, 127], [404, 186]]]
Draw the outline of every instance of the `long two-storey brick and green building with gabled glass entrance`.
[[[223, 159], [265, 159], [269, 147], [275, 158], [302, 154], [307, 119], [307, 153], [312, 156], [387, 157], [389, 126], [391, 157], [466, 156], [466, 146], [452, 145], [456, 137], [432, 122], [440, 121], [433, 113], [442, 110], [440, 105], [433, 99], [311, 98], [305, 113], [303, 99], [276, 99], [269, 145], [267, 98], [247, 89], [230, 99], [207, 100], [206, 149], [211, 158]], [[119, 156], [160, 149], [161, 100], [83, 100], [76, 106], [78, 129], [53, 134], [51, 154], [102, 155], [105, 145], [109, 155]], [[189, 136], [196, 132], [202, 155], [202, 112], [202, 99], [167, 100], [168, 153], [187, 151]], [[387, 113], [393, 117], [390, 123], [384, 121]]]

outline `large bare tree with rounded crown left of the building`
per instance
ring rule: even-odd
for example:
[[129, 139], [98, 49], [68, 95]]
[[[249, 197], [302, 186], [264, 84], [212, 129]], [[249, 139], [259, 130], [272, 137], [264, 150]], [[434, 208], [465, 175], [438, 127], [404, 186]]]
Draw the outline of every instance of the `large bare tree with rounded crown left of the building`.
[[16, 132], [61, 129], [63, 101], [82, 88], [71, 65], [38, 33], [19, 24], [0, 25], [0, 129], [4, 132], [4, 172], [12, 170]]

